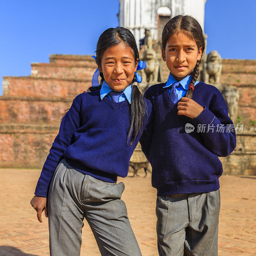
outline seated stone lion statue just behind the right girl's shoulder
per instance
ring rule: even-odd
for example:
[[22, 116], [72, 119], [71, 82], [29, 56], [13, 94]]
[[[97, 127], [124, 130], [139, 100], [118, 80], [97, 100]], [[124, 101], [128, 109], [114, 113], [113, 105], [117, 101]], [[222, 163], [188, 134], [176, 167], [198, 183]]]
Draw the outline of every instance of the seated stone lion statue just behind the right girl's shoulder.
[[203, 81], [206, 84], [220, 84], [220, 74], [222, 62], [220, 54], [217, 51], [212, 51], [207, 55], [207, 60], [204, 63]]

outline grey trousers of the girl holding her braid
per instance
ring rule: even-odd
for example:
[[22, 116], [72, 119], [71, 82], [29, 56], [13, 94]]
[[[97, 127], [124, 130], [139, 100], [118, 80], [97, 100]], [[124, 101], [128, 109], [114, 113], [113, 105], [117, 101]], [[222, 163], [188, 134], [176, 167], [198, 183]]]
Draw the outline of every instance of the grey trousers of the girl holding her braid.
[[158, 196], [156, 233], [159, 255], [217, 256], [219, 213], [220, 189]]

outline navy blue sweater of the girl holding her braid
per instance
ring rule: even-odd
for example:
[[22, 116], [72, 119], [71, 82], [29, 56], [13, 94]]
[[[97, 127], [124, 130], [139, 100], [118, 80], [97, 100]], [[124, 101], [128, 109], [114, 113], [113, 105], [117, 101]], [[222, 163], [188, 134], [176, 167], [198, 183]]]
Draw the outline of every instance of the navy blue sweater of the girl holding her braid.
[[[172, 102], [163, 86], [156, 84], [145, 92], [153, 105], [154, 122], [140, 138], [142, 151], [152, 165], [157, 196], [219, 189], [223, 170], [218, 156], [228, 156], [236, 147], [234, 124], [222, 94], [212, 85], [196, 84], [192, 99], [204, 110], [191, 119], [178, 115], [178, 102]], [[187, 133], [186, 124], [194, 126], [194, 131]], [[224, 132], [218, 132], [221, 129]]]

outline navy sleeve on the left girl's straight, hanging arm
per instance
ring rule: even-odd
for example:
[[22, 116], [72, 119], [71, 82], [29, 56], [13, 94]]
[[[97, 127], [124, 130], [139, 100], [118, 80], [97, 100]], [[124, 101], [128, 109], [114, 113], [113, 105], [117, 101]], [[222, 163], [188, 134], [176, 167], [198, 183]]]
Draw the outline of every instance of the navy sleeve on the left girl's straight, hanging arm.
[[58, 166], [64, 151], [71, 144], [74, 132], [79, 128], [79, 112], [80, 107], [74, 99], [70, 109], [60, 123], [60, 131], [52, 143], [50, 153], [44, 163], [41, 175], [36, 185], [35, 195], [47, 197], [52, 175]]

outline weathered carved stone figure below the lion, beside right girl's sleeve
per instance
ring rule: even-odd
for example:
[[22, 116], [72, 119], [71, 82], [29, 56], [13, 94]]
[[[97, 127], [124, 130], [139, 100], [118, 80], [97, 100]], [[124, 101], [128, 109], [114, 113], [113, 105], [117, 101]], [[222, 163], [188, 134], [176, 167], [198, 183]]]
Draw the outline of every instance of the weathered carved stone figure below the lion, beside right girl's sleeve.
[[239, 92], [235, 86], [224, 86], [222, 95], [228, 105], [228, 115], [233, 123], [236, 122]]

